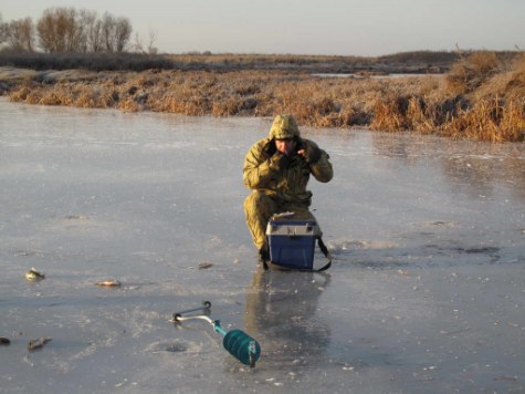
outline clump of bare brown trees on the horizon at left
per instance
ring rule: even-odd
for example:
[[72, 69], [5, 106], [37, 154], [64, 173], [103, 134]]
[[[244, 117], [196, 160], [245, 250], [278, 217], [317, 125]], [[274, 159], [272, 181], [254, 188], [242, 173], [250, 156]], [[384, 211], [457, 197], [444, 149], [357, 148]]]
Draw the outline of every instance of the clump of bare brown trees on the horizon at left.
[[85, 9], [50, 8], [36, 23], [31, 18], [3, 22], [0, 15], [2, 51], [120, 53], [130, 49], [132, 31], [127, 18]]

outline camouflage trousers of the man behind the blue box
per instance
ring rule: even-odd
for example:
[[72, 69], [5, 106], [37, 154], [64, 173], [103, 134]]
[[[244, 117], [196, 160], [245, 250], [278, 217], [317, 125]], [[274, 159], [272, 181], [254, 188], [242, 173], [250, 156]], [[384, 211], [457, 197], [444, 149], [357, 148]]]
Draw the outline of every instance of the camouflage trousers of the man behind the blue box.
[[253, 238], [253, 243], [260, 250], [266, 246], [266, 225], [274, 214], [295, 212], [294, 219], [315, 220], [314, 215], [304, 204], [277, 203], [271, 196], [254, 190], [244, 200], [246, 225]]

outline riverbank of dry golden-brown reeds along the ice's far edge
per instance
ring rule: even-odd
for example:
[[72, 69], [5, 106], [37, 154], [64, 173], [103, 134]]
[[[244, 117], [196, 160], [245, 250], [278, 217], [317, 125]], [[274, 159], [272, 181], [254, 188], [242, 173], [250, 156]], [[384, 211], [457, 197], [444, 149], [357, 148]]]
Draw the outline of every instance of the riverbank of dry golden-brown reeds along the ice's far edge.
[[524, 138], [523, 54], [502, 60], [475, 52], [445, 74], [375, 74], [326, 77], [301, 68], [128, 72], [3, 66], [0, 91], [11, 101], [42, 105], [213, 116], [290, 113], [307, 126], [361, 126], [491, 142]]

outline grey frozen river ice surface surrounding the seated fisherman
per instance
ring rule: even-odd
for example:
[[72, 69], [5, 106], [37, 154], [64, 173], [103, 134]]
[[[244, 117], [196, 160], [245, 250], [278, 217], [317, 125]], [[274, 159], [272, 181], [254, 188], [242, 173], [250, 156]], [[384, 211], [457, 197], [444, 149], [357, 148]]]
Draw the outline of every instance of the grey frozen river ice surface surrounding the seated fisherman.
[[[525, 391], [524, 145], [303, 128], [335, 261], [264, 272], [241, 170], [270, 123], [0, 101], [0, 392]], [[203, 300], [256, 367], [169, 322]]]

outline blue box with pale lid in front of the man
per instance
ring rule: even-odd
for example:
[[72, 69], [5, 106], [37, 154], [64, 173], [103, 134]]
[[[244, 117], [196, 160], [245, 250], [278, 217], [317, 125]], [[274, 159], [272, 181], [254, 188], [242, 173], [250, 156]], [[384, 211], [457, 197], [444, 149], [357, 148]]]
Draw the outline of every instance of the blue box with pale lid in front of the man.
[[266, 237], [270, 261], [292, 269], [313, 268], [315, 241], [321, 237], [315, 220], [270, 219]]

